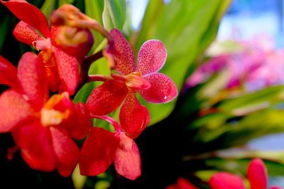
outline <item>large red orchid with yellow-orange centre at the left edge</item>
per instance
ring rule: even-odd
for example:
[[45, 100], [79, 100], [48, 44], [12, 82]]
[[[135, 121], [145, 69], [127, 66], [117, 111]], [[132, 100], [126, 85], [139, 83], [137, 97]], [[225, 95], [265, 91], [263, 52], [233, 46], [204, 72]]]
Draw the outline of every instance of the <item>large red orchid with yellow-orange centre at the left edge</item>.
[[67, 92], [49, 99], [45, 69], [33, 53], [23, 55], [18, 71], [0, 56], [0, 75], [0, 84], [11, 87], [0, 96], [0, 133], [11, 132], [31, 168], [70, 175], [80, 153], [70, 136], [82, 139], [92, 126], [84, 104], [73, 104]]

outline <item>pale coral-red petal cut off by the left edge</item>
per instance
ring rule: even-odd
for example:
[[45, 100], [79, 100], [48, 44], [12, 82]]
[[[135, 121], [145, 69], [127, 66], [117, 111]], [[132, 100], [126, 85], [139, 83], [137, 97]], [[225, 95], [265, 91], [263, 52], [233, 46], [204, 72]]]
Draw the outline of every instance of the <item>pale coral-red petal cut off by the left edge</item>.
[[31, 104], [16, 91], [6, 90], [0, 96], [0, 133], [9, 132], [35, 114]]

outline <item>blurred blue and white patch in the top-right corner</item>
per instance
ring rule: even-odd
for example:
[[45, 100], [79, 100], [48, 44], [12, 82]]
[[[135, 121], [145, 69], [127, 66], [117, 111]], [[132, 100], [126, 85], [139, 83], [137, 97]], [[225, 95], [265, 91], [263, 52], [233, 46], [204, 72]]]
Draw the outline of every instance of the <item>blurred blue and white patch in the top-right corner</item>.
[[249, 39], [268, 34], [277, 48], [284, 46], [283, 0], [235, 0], [220, 24], [217, 38]]

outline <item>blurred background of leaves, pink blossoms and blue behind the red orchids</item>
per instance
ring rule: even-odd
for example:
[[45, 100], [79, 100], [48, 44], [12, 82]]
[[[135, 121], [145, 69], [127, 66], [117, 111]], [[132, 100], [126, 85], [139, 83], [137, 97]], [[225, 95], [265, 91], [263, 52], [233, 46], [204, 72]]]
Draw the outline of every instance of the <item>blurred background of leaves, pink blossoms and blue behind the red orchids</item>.
[[[103, 0], [29, 2], [47, 17], [67, 2], [101, 24], [106, 19]], [[116, 16], [124, 21], [105, 27], [122, 30], [136, 55], [145, 41], [162, 41], [168, 58], [160, 72], [180, 91], [168, 104], [139, 99], [151, 113], [151, 124], [136, 139], [141, 177], [126, 180], [113, 166], [96, 177], [81, 176], [77, 169], [70, 178], [34, 171], [19, 152], [7, 161], [13, 139], [0, 134], [1, 183], [11, 188], [165, 188], [182, 177], [209, 188], [209, 178], [226, 171], [242, 176], [249, 188], [247, 166], [251, 158], [262, 158], [268, 185], [284, 188], [284, 1], [129, 0], [119, 10], [125, 16]], [[0, 55], [17, 65], [24, 52], [35, 50], [13, 37], [18, 20], [3, 5], [0, 18]], [[90, 53], [106, 43], [94, 36]], [[102, 74], [105, 60], [99, 61], [89, 73]], [[74, 101], [85, 102], [96, 86], [82, 87]]]

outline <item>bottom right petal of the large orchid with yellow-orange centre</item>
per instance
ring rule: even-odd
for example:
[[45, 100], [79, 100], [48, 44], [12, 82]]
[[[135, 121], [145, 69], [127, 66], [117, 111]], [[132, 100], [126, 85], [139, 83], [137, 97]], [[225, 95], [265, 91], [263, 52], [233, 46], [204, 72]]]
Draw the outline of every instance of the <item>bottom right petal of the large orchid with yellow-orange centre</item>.
[[50, 126], [50, 134], [57, 159], [56, 168], [60, 175], [67, 177], [77, 165], [80, 150], [67, 131], [60, 127]]

